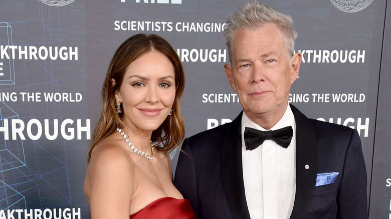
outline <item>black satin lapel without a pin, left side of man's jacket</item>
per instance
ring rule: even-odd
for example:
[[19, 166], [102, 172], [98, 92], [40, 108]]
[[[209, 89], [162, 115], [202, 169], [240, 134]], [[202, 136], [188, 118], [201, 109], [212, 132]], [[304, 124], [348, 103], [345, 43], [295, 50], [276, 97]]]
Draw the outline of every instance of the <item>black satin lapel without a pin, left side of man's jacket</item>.
[[249, 218], [242, 169], [241, 121], [243, 111], [231, 122], [222, 142], [223, 186], [234, 218]]

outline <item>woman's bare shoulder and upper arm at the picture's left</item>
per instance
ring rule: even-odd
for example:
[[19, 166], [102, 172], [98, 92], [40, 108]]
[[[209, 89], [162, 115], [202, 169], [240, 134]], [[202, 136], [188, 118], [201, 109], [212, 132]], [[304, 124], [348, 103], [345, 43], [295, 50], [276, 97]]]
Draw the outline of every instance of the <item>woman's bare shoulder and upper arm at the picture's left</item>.
[[[84, 181], [92, 218], [129, 215], [134, 192], [134, 166], [129, 151], [108, 136], [92, 150]], [[119, 216], [121, 215], [121, 216]]]

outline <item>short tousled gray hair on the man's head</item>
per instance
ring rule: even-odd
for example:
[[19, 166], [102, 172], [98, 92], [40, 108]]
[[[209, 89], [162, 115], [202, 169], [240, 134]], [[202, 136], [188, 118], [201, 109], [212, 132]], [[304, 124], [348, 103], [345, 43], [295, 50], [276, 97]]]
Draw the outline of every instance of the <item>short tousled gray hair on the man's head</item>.
[[258, 2], [247, 2], [240, 6], [227, 20], [223, 37], [228, 47], [228, 54], [231, 60], [231, 41], [236, 30], [262, 27], [265, 23], [275, 23], [285, 36], [285, 47], [289, 55], [293, 55], [297, 32], [293, 28], [292, 17], [278, 12], [274, 8], [259, 4]]

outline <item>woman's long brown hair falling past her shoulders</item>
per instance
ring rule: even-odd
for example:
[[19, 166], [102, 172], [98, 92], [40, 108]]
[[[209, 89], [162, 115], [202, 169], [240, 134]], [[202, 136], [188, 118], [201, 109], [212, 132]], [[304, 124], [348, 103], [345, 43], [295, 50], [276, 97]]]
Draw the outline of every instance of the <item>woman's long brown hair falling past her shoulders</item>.
[[[159, 51], [171, 61], [175, 71], [175, 99], [172, 104], [172, 115], [167, 116], [163, 123], [152, 131], [151, 140], [158, 143], [157, 149], [170, 151], [177, 146], [184, 136], [184, 124], [180, 113], [180, 99], [184, 89], [184, 71], [182, 63], [172, 46], [162, 37], [151, 34], [136, 34], [126, 39], [116, 50], [107, 70], [102, 87], [102, 112], [95, 126], [92, 143], [88, 151], [87, 161], [90, 161], [92, 149], [103, 138], [113, 133], [117, 127], [124, 127], [123, 114], [117, 113], [115, 91], [122, 84], [126, 67], [141, 55], [149, 51]], [[115, 80], [113, 85], [111, 79]]]

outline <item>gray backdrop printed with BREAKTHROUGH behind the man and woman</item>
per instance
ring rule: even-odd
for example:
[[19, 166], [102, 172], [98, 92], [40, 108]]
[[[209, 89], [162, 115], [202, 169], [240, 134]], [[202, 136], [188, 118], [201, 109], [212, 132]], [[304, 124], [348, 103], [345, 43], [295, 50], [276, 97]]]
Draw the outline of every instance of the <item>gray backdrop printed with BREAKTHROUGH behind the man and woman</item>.
[[[0, 218], [90, 218], [83, 181], [101, 86], [131, 35], [158, 34], [177, 51], [186, 136], [233, 120], [241, 105], [224, 73], [222, 32], [245, 2], [0, 0]], [[391, 218], [391, 3], [258, 2], [290, 14], [299, 33], [290, 102], [358, 130], [369, 216]]]

